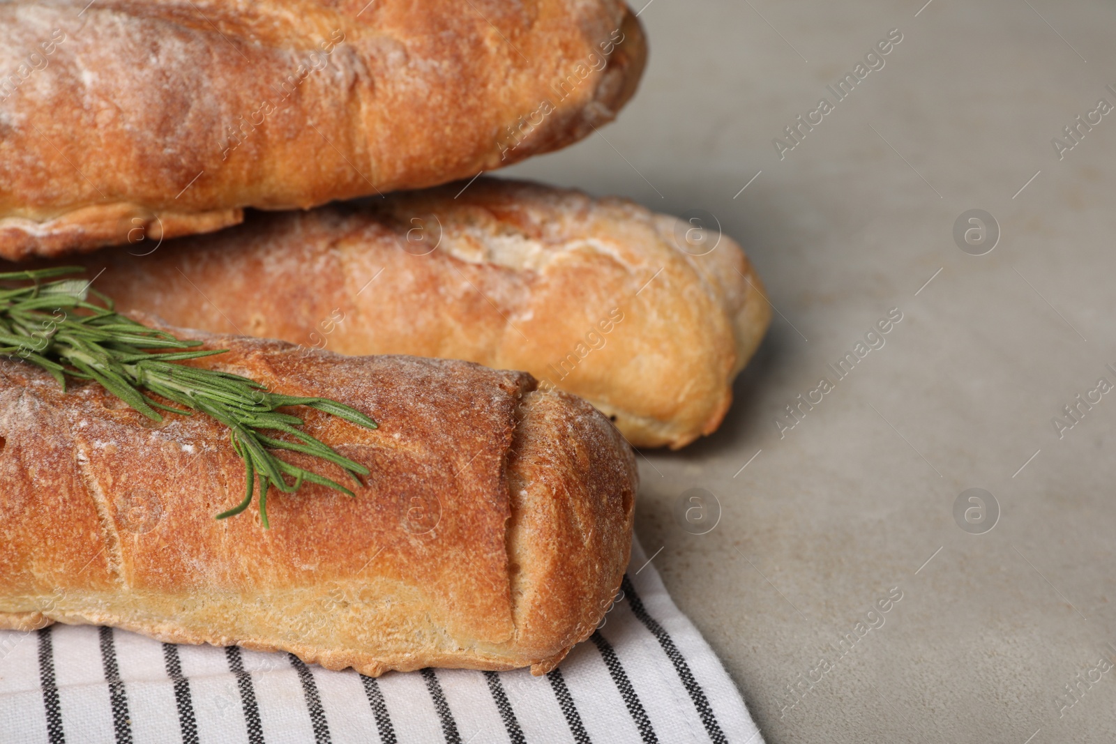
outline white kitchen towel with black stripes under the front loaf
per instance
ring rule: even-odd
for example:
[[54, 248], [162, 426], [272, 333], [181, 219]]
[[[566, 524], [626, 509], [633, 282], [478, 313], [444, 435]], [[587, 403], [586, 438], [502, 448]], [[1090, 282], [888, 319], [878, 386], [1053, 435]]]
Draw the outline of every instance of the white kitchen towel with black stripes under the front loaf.
[[0, 631], [0, 742], [762, 744], [638, 543], [622, 588], [593, 638], [543, 677], [423, 669], [372, 679], [110, 628]]

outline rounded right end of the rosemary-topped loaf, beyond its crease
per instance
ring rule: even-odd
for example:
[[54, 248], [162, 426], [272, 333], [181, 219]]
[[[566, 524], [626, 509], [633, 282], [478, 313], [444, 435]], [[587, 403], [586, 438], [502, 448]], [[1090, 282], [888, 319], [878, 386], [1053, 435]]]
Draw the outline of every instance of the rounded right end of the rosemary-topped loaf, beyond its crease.
[[[603, 461], [597, 454], [614, 448], [626, 458]], [[638, 472], [631, 448], [593, 406], [566, 393], [536, 390], [519, 408], [508, 476], [516, 627], [542, 659], [531, 670], [545, 674], [593, 635], [619, 591], [635, 518], [628, 484]], [[602, 555], [622, 558], [602, 561]]]

